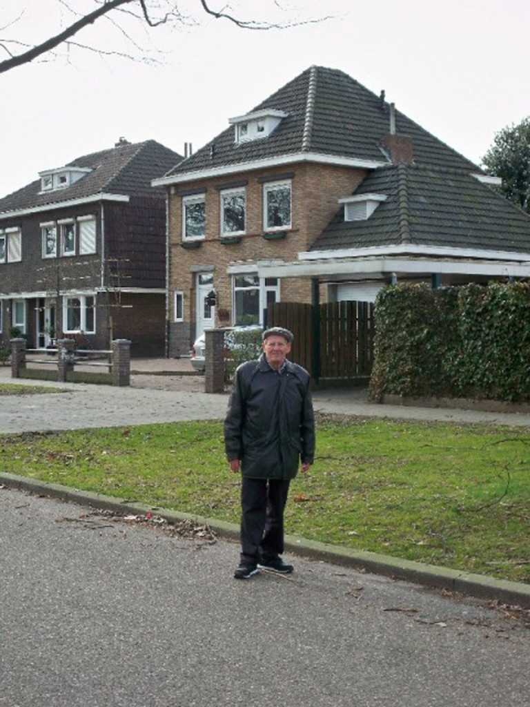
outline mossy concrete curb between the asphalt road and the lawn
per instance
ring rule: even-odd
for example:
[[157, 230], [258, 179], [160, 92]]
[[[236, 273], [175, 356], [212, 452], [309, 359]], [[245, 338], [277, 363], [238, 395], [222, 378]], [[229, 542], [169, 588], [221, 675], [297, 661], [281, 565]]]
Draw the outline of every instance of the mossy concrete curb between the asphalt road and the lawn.
[[[220, 537], [239, 540], [240, 529], [234, 523], [213, 518], [204, 518], [190, 513], [179, 513], [145, 503], [128, 501], [125, 498], [114, 498], [102, 493], [80, 491], [60, 484], [48, 484], [38, 479], [19, 477], [16, 474], [0, 472], [0, 483], [19, 491], [29, 491], [42, 496], [59, 498], [83, 506], [91, 506], [103, 510], [114, 510], [121, 513], [153, 513], [164, 518], [169, 523], [182, 520], [193, 520], [199, 525], [208, 525]], [[295, 535], [285, 536], [285, 549], [308, 559], [320, 560], [332, 564], [355, 568], [374, 574], [384, 575], [393, 579], [406, 580], [415, 584], [425, 585], [464, 595], [478, 597], [483, 600], [500, 601], [524, 609], [530, 608], [530, 585], [521, 582], [498, 580], [485, 575], [461, 572], [446, 567], [426, 565], [411, 560], [401, 560], [396, 557], [380, 555], [375, 552], [351, 550], [336, 545], [307, 540]]]

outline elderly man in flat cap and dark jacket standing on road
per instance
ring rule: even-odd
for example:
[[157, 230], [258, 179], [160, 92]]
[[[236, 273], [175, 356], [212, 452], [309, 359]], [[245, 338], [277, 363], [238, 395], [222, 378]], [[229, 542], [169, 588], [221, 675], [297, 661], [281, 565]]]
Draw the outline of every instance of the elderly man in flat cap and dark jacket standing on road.
[[283, 511], [290, 480], [300, 463], [314, 460], [310, 375], [287, 360], [293, 334], [273, 327], [263, 334], [263, 353], [235, 372], [225, 419], [225, 449], [232, 472], [241, 472], [241, 556], [236, 579], [293, 566], [281, 559]]

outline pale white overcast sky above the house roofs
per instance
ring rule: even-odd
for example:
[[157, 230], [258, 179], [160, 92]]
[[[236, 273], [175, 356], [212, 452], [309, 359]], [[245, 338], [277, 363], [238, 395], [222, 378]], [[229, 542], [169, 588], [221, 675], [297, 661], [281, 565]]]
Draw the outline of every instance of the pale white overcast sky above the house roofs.
[[[146, 32], [114, 14], [141, 49], [107, 20], [76, 37], [148, 63], [73, 47], [0, 74], [0, 196], [42, 170], [110, 148], [121, 136], [155, 139], [179, 153], [192, 143], [195, 151], [228, 118], [248, 112], [312, 64], [346, 71], [374, 93], [384, 89], [398, 110], [476, 163], [495, 132], [530, 115], [529, 0], [278, 3], [290, 13], [275, 10], [274, 0], [234, 1], [232, 8], [256, 19], [333, 17], [251, 32], [207, 18], [198, 0], [183, 0], [195, 25]], [[93, 0], [68, 4], [94, 6]], [[19, 8], [25, 13], [15, 21]], [[36, 43], [71, 21], [61, 0], [3, 0], [0, 41]]]

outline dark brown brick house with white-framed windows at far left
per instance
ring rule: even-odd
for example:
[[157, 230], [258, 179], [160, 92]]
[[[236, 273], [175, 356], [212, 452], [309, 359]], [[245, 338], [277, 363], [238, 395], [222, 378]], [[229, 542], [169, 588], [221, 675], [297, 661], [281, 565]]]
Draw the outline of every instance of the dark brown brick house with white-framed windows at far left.
[[0, 331], [30, 348], [130, 339], [165, 351], [165, 192], [151, 180], [182, 157], [153, 140], [45, 170], [0, 199]]

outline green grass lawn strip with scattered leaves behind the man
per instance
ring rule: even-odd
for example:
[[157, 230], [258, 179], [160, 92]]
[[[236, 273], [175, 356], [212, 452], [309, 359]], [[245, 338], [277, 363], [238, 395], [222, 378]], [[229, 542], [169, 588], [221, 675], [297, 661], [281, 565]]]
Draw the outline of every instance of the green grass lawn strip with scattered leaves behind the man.
[[[239, 521], [220, 422], [0, 441], [6, 472]], [[317, 460], [293, 481], [286, 530], [530, 582], [530, 429], [319, 415]]]

